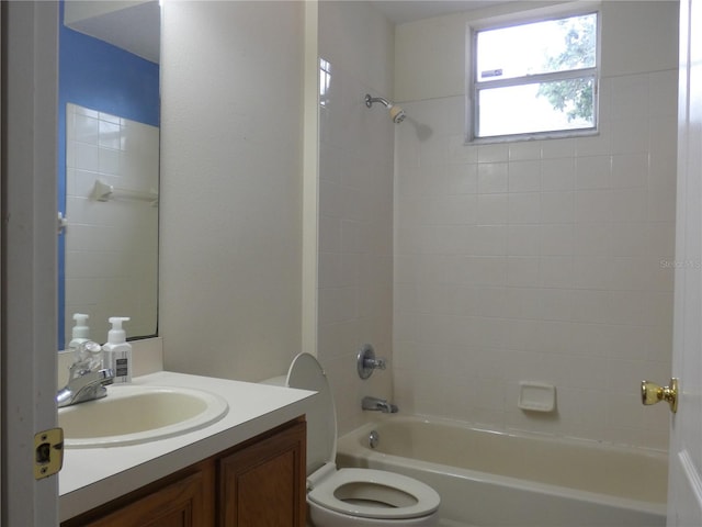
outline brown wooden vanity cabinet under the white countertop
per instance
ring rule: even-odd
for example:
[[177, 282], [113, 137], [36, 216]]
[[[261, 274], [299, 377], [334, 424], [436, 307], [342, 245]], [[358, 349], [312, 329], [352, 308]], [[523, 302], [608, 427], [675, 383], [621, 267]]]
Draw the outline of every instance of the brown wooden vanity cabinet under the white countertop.
[[61, 524], [61, 527], [304, 527], [304, 417]]

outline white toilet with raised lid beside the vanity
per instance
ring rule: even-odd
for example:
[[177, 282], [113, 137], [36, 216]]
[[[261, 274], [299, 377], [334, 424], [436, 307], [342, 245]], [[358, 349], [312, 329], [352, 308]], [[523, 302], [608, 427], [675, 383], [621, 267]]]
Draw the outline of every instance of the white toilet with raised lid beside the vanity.
[[437, 491], [401, 474], [337, 469], [337, 413], [317, 359], [299, 354], [285, 381], [318, 392], [307, 412], [307, 505], [315, 527], [431, 526], [438, 522]]

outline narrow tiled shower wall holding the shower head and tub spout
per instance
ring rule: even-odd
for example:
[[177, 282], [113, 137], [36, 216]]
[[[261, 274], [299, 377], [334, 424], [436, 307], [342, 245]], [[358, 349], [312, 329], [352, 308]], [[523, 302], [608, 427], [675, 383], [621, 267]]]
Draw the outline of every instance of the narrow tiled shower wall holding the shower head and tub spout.
[[393, 26], [365, 2], [321, 2], [319, 55], [331, 65], [320, 108], [318, 357], [340, 433], [363, 419], [364, 395], [392, 396], [392, 373], [359, 379], [365, 343], [392, 359], [394, 124], [365, 93], [393, 92]]

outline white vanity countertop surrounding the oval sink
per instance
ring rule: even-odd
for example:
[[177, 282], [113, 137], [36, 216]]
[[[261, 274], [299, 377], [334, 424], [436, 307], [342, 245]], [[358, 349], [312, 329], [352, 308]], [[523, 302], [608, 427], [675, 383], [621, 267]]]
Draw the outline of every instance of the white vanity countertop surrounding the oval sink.
[[168, 371], [135, 378], [133, 384], [208, 391], [223, 396], [229, 411], [210, 426], [176, 437], [123, 447], [66, 449], [58, 478], [61, 522], [305, 414], [315, 394]]

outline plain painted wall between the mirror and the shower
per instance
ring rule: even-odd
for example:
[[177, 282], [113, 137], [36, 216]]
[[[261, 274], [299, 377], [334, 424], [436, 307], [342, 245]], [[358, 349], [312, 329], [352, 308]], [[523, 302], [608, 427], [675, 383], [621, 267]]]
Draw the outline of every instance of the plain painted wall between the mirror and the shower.
[[166, 2], [159, 334], [169, 370], [301, 351], [302, 2]]

